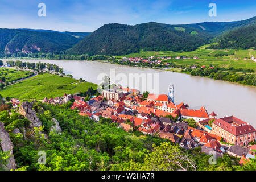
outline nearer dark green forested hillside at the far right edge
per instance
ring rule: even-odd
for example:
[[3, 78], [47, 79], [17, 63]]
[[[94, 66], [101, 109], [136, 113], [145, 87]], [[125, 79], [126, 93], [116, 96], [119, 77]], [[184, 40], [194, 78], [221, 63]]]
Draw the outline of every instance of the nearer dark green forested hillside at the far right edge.
[[217, 38], [217, 44], [209, 49], [255, 49], [256, 23], [251, 26], [236, 28]]

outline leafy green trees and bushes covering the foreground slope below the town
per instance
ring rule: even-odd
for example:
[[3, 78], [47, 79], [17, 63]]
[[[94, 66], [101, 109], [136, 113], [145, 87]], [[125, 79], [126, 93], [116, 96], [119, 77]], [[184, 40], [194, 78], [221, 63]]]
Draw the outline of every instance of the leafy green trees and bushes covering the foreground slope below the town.
[[[0, 113], [14, 143], [18, 171], [253, 169], [253, 166], [237, 167], [238, 159], [226, 154], [210, 165], [211, 156], [202, 154], [200, 147], [184, 150], [167, 139], [151, 135], [137, 137], [118, 129], [108, 119], [94, 122], [82, 117], [77, 110], [69, 109], [71, 105], [70, 101], [59, 106], [35, 102], [33, 109], [43, 126], [34, 129], [18, 113], [13, 112], [11, 116], [7, 111]], [[59, 122], [61, 133], [49, 130], [52, 118]], [[17, 127], [22, 134], [12, 133]], [[38, 163], [40, 151], [46, 152], [45, 164]], [[1, 151], [0, 155], [0, 162], [5, 163], [6, 155]]]

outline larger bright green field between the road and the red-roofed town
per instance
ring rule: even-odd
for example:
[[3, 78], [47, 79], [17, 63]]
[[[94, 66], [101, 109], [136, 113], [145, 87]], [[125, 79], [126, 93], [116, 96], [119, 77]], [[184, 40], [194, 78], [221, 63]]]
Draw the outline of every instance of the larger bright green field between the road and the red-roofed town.
[[7, 86], [0, 90], [3, 97], [19, 99], [38, 99], [44, 97], [62, 97], [64, 93], [74, 94], [77, 92], [86, 92], [89, 87], [97, 88], [96, 84], [90, 82], [79, 82], [73, 78], [61, 77], [44, 73], [20, 83]]

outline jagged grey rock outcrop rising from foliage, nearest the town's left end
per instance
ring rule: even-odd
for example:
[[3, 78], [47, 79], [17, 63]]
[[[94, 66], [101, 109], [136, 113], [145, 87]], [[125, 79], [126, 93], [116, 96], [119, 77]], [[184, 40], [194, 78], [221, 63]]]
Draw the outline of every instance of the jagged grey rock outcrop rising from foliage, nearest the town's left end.
[[26, 117], [31, 123], [30, 128], [40, 127], [42, 123], [40, 119], [36, 116], [36, 111], [32, 110], [33, 102], [23, 102], [19, 107], [19, 114]]

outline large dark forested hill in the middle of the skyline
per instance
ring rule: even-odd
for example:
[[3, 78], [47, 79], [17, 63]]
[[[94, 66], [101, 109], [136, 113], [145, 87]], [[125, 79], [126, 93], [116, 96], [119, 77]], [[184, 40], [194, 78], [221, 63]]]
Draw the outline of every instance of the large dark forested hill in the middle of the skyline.
[[68, 53], [125, 55], [144, 51], [192, 51], [208, 43], [209, 35], [196, 28], [155, 22], [128, 26], [105, 24], [86, 36]]

